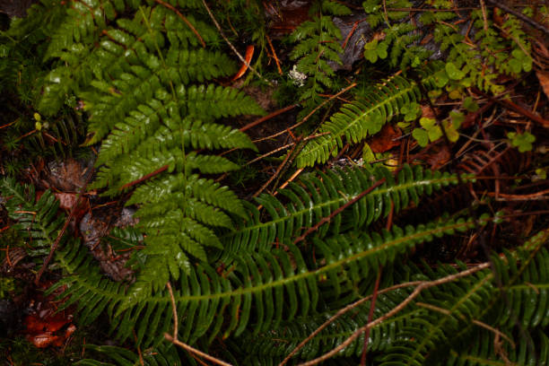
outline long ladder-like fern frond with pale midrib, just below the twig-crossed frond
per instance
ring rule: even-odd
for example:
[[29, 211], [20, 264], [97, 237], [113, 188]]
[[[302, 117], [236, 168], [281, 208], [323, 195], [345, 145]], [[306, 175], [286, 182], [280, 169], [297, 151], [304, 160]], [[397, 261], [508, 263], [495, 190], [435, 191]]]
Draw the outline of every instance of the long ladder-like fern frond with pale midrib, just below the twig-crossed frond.
[[[462, 219], [441, 220], [416, 229], [395, 228], [381, 235], [355, 233], [312, 240], [318, 260], [309, 265], [299, 248], [288, 244], [286, 250], [240, 254], [226, 274], [217, 274], [206, 265], [190, 268], [187, 274], [180, 274], [179, 290], [174, 295], [182, 317], [181, 339], [192, 343], [206, 334], [212, 339], [220, 332], [224, 336], [240, 335], [248, 328], [258, 334], [278, 327], [283, 320], [306, 316], [317, 308], [318, 278], [327, 277], [334, 293], [342, 292], [349, 282], [358, 288], [366, 279], [371, 280], [379, 265], [392, 262], [407, 248], [474, 225]], [[150, 282], [138, 281], [117, 314], [133, 309], [132, 316], [140, 318], [139, 314], [151, 306], [169, 307], [170, 297], [164, 291], [153, 292]]]

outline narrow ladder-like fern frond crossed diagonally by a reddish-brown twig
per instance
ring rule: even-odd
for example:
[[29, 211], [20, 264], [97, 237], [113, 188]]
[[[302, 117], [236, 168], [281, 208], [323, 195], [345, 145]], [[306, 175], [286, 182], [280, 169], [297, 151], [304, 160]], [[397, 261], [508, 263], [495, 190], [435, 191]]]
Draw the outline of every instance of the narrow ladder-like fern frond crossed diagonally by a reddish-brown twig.
[[[268, 249], [276, 240], [285, 243], [300, 236], [381, 178], [387, 181], [346, 212], [321, 226], [318, 237], [363, 229], [386, 216], [391, 202], [395, 212], [399, 212], [412, 202], [417, 205], [420, 196], [431, 195], [433, 190], [455, 185], [458, 181], [457, 176], [449, 173], [423, 170], [420, 166], [411, 168], [408, 165], [399, 171], [396, 179], [384, 167], [372, 170], [328, 170], [327, 173], [307, 175], [301, 178], [299, 184], [291, 183], [288, 188], [280, 191], [287, 200], [284, 205], [274, 196], [262, 195], [257, 198], [257, 203], [265, 207], [270, 220], [260, 221], [257, 208], [248, 205], [248, 222], [243, 222], [241, 228], [223, 238], [221, 260], [226, 262], [237, 253]], [[462, 176], [462, 179], [467, 181], [471, 177]]]

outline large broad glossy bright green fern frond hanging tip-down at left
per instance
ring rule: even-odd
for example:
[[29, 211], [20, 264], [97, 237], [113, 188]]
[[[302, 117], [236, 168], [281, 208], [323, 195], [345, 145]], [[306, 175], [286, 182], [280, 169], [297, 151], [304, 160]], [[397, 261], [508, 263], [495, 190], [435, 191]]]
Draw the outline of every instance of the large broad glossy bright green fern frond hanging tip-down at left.
[[[215, 228], [231, 228], [229, 214], [243, 214], [235, 195], [192, 175], [239, 168], [198, 149], [255, 149], [247, 135], [214, 119], [264, 112], [245, 93], [210, 83], [236, 66], [221, 51], [202, 48], [202, 42], [216, 43], [218, 34], [198, 19], [200, 13], [186, 16], [187, 23], [154, 2], [87, 1], [88, 13], [80, 16], [83, 4], [78, 3], [67, 14], [65, 38], [50, 44], [50, 56], [64, 65], [48, 76], [43, 100], [52, 98], [55, 104], [59, 92], [75, 92], [89, 110], [87, 144], [102, 141], [90, 187], [107, 187], [103, 194], [114, 196], [148, 180], [130, 203], [140, 207], [136, 216], [146, 237], [139, 275], [158, 290], [170, 275], [178, 279], [180, 271], [190, 271], [193, 261], [206, 261], [205, 247], [221, 248]], [[202, 7], [196, 1], [176, 5]], [[101, 21], [91, 22], [91, 13]], [[79, 28], [79, 22], [85, 25]], [[89, 49], [76, 47], [80, 41]], [[74, 83], [65, 83], [67, 78]], [[54, 91], [56, 85], [65, 90]], [[169, 183], [165, 177], [170, 175], [176, 178]], [[166, 184], [171, 186], [163, 190]], [[162, 194], [153, 197], [147, 189]]]

